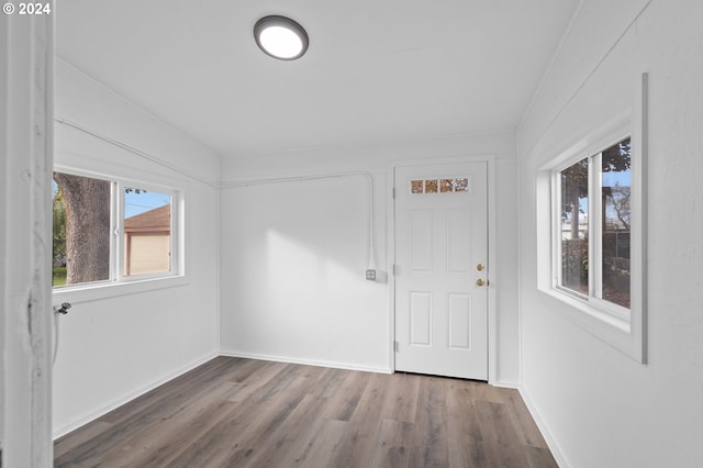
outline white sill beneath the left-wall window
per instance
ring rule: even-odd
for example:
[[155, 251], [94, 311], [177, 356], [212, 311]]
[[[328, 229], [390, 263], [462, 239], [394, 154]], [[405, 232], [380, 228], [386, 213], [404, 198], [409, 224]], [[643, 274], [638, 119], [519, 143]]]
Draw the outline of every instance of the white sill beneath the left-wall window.
[[54, 304], [62, 302], [81, 303], [100, 301], [119, 296], [138, 294], [159, 289], [177, 288], [189, 285], [186, 276], [169, 276], [129, 282], [102, 282], [62, 287], [52, 291]]

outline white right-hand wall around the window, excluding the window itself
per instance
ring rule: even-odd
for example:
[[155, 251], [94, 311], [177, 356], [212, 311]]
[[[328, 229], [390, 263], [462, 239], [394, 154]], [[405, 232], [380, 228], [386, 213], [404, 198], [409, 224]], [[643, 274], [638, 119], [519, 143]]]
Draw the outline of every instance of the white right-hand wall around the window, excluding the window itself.
[[[583, 1], [518, 131], [522, 391], [563, 466], [703, 460], [701, 24], [699, 0]], [[647, 365], [567, 321], [566, 305], [537, 291], [535, 248], [535, 218], [545, 210], [535, 201], [539, 168], [632, 107], [644, 71], [650, 80]]]

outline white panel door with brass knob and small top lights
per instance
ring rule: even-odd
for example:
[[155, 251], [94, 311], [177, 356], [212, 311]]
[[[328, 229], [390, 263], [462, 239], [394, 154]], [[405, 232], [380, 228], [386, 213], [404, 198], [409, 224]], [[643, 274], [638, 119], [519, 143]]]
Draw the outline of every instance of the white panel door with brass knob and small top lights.
[[487, 179], [395, 168], [395, 370], [488, 380]]

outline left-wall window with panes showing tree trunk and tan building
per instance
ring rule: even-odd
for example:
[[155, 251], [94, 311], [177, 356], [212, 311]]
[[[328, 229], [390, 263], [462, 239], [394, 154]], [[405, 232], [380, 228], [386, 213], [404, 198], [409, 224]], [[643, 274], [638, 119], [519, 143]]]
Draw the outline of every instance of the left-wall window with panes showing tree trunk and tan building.
[[54, 288], [178, 274], [177, 190], [55, 171], [52, 192]]

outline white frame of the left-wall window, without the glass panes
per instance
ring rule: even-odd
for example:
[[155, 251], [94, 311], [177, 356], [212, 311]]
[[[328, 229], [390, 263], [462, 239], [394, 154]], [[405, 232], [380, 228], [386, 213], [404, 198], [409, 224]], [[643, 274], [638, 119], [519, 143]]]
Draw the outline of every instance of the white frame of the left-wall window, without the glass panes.
[[[56, 166], [54, 171], [105, 180], [111, 183], [110, 196], [110, 278], [79, 285], [53, 288], [54, 302], [86, 302], [153, 289], [170, 288], [187, 283], [185, 258], [185, 189], [158, 182], [118, 177], [90, 170]], [[170, 270], [156, 274], [124, 276], [124, 188], [140, 188], [171, 197]]]

